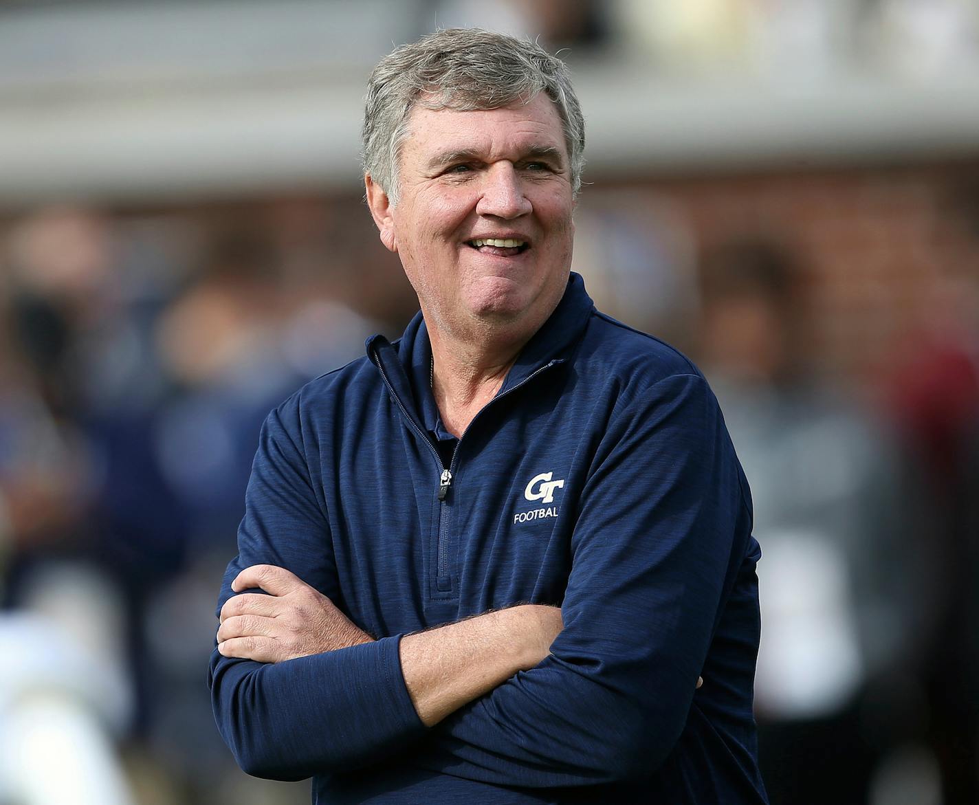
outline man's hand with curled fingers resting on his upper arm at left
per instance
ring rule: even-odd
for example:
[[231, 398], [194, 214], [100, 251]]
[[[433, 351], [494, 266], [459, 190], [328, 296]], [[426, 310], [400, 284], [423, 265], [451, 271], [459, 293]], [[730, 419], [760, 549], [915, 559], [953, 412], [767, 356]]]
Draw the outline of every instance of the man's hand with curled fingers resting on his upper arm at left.
[[274, 565], [245, 568], [231, 583], [235, 595], [221, 607], [217, 650], [225, 657], [282, 662], [347, 648], [373, 638], [358, 629], [326, 595]]

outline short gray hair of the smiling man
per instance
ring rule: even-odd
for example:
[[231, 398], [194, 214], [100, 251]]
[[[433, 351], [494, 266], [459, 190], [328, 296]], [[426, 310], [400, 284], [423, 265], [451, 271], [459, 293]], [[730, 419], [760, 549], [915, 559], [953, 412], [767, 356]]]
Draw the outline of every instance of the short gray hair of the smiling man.
[[545, 92], [564, 129], [577, 194], [584, 166], [584, 118], [571, 74], [535, 42], [481, 28], [445, 28], [401, 45], [367, 80], [362, 131], [363, 169], [388, 194], [399, 195], [398, 163], [415, 106], [501, 109]]

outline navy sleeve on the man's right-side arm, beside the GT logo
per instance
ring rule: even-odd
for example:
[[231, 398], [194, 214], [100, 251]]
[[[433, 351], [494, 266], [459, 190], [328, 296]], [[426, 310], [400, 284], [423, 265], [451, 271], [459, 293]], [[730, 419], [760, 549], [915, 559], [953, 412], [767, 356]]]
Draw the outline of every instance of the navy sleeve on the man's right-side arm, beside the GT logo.
[[[620, 402], [578, 501], [564, 631], [540, 665], [440, 724], [420, 766], [528, 786], [652, 774], [684, 730], [738, 579], [748, 606], [729, 626], [757, 630], [750, 504], [706, 382], [675, 375]], [[750, 721], [752, 636], [720, 650], [734, 656], [708, 685], [747, 687]], [[720, 706], [736, 709], [729, 696]]]

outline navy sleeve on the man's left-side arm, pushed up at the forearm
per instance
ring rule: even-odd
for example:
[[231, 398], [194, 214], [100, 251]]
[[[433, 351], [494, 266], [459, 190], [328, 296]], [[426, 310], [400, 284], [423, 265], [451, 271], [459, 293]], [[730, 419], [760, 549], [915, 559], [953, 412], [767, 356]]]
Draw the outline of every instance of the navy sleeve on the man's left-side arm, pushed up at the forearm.
[[[238, 556], [224, 576], [218, 611], [245, 567], [291, 569], [342, 606], [324, 504], [310, 484], [298, 395], [262, 427]], [[396, 751], [424, 727], [404, 687], [399, 637], [276, 664], [211, 654], [214, 718], [243, 770], [300, 780], [347, 770]]]

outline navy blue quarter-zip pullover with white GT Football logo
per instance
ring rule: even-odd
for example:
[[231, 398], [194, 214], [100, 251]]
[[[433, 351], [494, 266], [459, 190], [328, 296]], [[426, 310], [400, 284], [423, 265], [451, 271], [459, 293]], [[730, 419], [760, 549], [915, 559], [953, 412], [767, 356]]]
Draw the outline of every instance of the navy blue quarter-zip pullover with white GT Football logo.
[[[241, 767], [311, 776], [316, 803], [765, 803], [760, 551], [696, 367], [572, 274], [455, 444], [421, 314], [367, 352], [269, 414], [218, 608], [269, 563], [378, 639], [277, 664], [215, 649]], [[400, 636], [519, 602], [561, 606], [550, 655], [424, 727]]]

